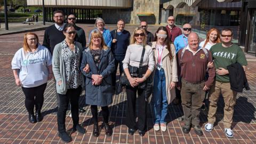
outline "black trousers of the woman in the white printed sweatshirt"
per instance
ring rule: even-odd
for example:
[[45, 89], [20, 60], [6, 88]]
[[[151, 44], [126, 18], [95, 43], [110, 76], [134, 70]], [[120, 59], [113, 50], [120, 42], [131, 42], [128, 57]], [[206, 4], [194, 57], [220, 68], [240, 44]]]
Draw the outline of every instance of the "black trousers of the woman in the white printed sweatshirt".
[[36, 87], [21, 87], [25, 94], [25, 106], [29, 114], [34, 114], [34, 106], [36, 107], [36, 112], [41, 113], [46, 85], [47, 83]]

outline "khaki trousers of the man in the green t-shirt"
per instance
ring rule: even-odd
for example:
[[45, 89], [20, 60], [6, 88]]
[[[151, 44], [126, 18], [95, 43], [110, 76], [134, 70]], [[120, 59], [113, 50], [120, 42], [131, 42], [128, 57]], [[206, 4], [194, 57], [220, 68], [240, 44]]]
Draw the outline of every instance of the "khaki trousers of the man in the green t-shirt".
[[208, 113], [208, 123], [214, 124], [216, 121], [217, 102], [220, 94], [225, 102], [223, 124], [230, 129], [233, 122], [234, 106], [236, 103], [236, 92], [230, 89], [230, 83], [215, 81], [210, 90], [210, 106]]

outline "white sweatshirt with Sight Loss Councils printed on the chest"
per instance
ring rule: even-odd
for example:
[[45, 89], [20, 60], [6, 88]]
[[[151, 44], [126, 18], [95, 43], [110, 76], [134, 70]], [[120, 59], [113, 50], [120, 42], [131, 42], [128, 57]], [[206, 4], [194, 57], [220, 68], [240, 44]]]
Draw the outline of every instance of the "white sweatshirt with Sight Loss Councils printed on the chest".
[[35, 52], [27, 52], [23, 47], [12, 59], [12, 69], [19, 70], [19, 78], [23, 87], [36, 87], [47, 82], [48, 66], [52, 65], [50, 51], [38, 44]]

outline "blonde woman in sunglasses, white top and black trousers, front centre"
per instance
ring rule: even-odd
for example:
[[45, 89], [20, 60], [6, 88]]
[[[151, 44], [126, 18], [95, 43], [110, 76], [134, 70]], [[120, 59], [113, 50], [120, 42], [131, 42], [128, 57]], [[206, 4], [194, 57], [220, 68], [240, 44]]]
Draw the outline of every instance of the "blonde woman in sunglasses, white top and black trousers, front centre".
[[[153, 51], [149, 45], [146, 44], [147, 35], [146, 31], [140, 27], [135, 28], [131, 36], [131, 43], [127, 47], [125, 58], [123, 60], [124, 73], [129, 80], [130, 85], [126, 86], [127, 94], [127, 111], [126, 111], [126, 125], [128, 132], [133, 135], [136, 127], [135, 117], [135, 101], [138, 92], [138, 129], [139, 134], [145, 134], [147, 122], [147, 101], [146, 89], [141, 86], [146, 82], [147, 78], [154, 70], [155, 62]], [[132, 69], [141, 69], [138, 74], [137, 71]], [[136, 72], [136, 73], [133, 73]]]

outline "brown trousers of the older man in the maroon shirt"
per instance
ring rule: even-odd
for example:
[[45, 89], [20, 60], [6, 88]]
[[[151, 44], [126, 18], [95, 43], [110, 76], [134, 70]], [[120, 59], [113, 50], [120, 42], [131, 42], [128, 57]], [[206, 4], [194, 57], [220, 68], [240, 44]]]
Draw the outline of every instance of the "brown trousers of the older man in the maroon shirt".
[[181, 105], [184, 113], [184, 122], [186, 125], [199, 125], [200, 108], [205, 97], [204, 82], [195, 84], [181, 79], [181, 83]]

